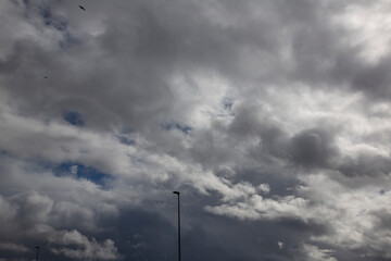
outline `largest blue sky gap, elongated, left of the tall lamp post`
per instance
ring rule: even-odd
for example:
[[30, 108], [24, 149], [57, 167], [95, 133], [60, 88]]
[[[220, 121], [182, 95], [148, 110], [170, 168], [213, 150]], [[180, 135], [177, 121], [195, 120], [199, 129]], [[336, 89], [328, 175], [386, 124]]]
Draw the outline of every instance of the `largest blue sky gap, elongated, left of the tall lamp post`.
[[102, 173], [92, 166], [79, 164], [77, 162], [64, 162], [53, 169], [55, 176], [74, 176], [78, 179], [88, 179], [103, 188], [114, 178], [110, 174]]

